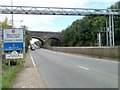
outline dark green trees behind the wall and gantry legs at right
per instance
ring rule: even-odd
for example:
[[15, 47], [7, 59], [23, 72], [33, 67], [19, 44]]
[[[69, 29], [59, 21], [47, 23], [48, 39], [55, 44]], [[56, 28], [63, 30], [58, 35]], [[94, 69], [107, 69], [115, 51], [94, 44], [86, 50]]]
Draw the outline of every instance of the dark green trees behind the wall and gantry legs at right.
[[[120, 2], [119, 2], [120, 4]], [[112, 5], [110, 8], [117, 8]], [[120, 45], [120, 17], [114, 16], [115, 43]], [[97, 31], [106, 27], [105, 16], [86, 16], [76, 20], [61, 32], [62, 46], [96, 46]], [[102, 45], [106, 45], [105, 33], [102, 34]]]

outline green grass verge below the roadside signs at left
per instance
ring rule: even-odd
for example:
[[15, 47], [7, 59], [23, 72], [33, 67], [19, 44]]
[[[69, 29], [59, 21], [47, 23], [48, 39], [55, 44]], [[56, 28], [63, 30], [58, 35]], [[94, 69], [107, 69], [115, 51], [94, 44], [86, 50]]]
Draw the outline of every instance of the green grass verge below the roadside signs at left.
[[8, 66], [3, 64], [3, 72], [2, 72], [2, 88], [10, 88], [13, 81], [16, 78], [16, 75], [18, 72], [20, 72], [24, 68], [24, 61], [25, 57], [22, 59], [21, 65], [14, 65], [14, 66]]

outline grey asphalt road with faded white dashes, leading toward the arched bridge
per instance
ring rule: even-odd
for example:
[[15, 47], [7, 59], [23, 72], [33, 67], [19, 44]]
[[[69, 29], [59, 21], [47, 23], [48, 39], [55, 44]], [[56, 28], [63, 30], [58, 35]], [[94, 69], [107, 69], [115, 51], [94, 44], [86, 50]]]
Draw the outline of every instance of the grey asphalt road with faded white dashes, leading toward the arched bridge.
[[30, 51], [49, 88], [118, 88], [118, 63], [54, 52]]

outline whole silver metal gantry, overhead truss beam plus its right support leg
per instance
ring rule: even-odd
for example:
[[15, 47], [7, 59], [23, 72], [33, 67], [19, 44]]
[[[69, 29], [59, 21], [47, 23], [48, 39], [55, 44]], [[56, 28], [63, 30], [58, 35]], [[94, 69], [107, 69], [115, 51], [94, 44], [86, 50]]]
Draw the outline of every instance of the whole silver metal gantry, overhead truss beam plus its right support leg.
[[114, 46], [113, 16], [120, 16], [119, 9], [86, 9], [61, 7], [0, 6], [2, 14], [106, 16], [106, 34], [110, 46]]

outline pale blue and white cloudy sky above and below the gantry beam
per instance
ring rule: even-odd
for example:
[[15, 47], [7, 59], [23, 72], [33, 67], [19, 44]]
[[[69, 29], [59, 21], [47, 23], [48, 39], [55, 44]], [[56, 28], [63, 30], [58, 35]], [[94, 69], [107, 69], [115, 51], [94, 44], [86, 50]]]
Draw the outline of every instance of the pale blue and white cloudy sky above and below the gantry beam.
[[[69, 7], [69, 8], [96, 8], [106, 9], [118, 0], [0, 0], [0, 5], [38, 6], [38, 7]], [[8, 17], [11, 24], [11, 15], [0, 15], [0, 21]], [[31, 31], [60, 32], [81, 19], [81, 16], [49, 16], [49, 15], [13, 15], [14, 27], [26, 25]], [[21, 22], [22, 21], [22, 22]]]

